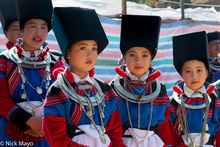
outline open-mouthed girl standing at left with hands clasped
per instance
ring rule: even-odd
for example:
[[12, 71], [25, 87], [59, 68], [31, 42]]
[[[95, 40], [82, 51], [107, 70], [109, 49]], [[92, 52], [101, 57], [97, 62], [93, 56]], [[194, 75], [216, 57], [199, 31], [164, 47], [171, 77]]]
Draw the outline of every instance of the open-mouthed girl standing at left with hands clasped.
[[[0, 141], [5, 146], [48, 146], [42, 105], [61, 55], [48, 52], [51, 0], [17, 0], [22, 38], [0, 55]], [[11, 143], [11, 144], [10, 144]], [[1, 144], [2, 145], [2, 144]]]

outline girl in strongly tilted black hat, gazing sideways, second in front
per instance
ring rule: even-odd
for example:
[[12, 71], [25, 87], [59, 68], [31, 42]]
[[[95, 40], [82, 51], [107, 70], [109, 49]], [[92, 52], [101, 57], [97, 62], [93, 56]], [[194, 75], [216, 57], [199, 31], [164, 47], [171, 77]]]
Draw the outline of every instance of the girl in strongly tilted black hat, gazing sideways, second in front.
[[123, 146], [117, 96], [93, 78], [97, 56], [108, 44], [92, 9], [55, 8], [53, 30], [69, 66], [54, 73], [44, 105], [43, 131], [54, 147]]

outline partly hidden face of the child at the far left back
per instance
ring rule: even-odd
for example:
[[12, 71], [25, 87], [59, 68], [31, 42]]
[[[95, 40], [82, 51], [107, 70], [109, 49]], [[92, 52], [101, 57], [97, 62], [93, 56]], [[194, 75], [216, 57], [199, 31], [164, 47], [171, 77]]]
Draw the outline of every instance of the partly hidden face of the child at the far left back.
[[8, 30], [5, 31], [5, 36], [8, 38], [8, 40], [15, 44], [17, 38], [21, 37], [21, 32], [19, 28], [19, 23], [18, 21], [13, 21], [9, 27]]

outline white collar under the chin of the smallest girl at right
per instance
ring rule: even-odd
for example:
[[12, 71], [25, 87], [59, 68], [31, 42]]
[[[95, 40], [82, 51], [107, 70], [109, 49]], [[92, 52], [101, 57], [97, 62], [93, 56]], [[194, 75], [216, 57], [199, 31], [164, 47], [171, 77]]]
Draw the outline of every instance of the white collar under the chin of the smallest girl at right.
[[183, 89], [184, 89], [185, 95], [191, 98], [203, 97], [202, 94], [206, 93], [206, 88], [204, 85], [199, 90], [193, 91], [189, 87], [187, 87], [186, 84], [184, 83]]

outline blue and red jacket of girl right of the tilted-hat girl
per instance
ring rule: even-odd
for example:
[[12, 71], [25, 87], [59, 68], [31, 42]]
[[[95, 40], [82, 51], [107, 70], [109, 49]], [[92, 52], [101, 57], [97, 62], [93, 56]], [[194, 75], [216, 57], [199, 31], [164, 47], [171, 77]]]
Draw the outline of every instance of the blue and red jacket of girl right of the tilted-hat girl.
[[[157, 71], [153, 69], [152, 67], [149, 68], [149, 75], [147, 79], [152, 80], [152, 92], [155, 92], [157, 89], [157, 83], [155, 81]], [[129, 77], [129, 81], [131, 79]], [[116, 89], [114, 79], [111, 82], [111, 86]], [[150, 94], [150, 86], [146, 85], [149, 84], [149, 80], [146, 80], [146, 83], [144, 84], [138, 84], [131, 81], [131, 84], [124, 85], [125, 78], [120, 78], [119, 82], [120, 85], [126, 89], [130, 94], [139, 95], [138, 91], [141, 91], [141, 95], [148, 96]], [[158, 81], [158, 84], [160, 85], [160, 90], [158, 92], [158, 95], [155, 99], [152, 100], [152, 120], [150, 124], [150, 131], [154, 131], [156, 134], [159, 135], [159, 137], [162, 139], [164, 144], [166, 145], [173, 145], [174, 140], [172, 139], [172, 131], [169, 126], [169, 113], [170, 113], [170, 100], [166, 92], [166, 88], [164, 84]], [[125, 88], [125, 86], [127, 88]], [[138, 90], [138, 91], [137, 91]], [[115, 90], [116, 91], [116, 90]], [[132, 103], [128, 101], [129, 106], [129, 113], [131, 117], [131, 122], [133, 125], [133, 128], [138, 128], [138, 104]], [[120, 113], [120, 116], [122, 118], [122, 126], [123, 131], [125, 132], [128, 128], [131, 128], [129, 123], [129, 117], [128, 117], [128, 110], [126, 106], [126, 97], [122, 97], [118, 94], [118, 100], [117, 100], [117, 108]], [[151, 101], [146, 103], [140, 104], [140, 129], [147, 130], [149, 125], [149, 119], [150, 119], [150, 113], [151, 113]]]

